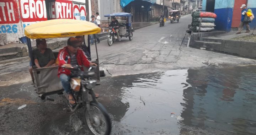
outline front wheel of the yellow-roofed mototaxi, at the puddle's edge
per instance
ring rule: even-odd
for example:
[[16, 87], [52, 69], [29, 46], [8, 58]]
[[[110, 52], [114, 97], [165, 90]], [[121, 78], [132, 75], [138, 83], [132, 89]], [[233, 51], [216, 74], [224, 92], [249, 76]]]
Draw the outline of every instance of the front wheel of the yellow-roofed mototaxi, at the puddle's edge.
[[85, 107], [84, 121], [93, 135], [110, 135], [111, 133], [110, 117], [101, 103], [91, 102], [90, 113]]

